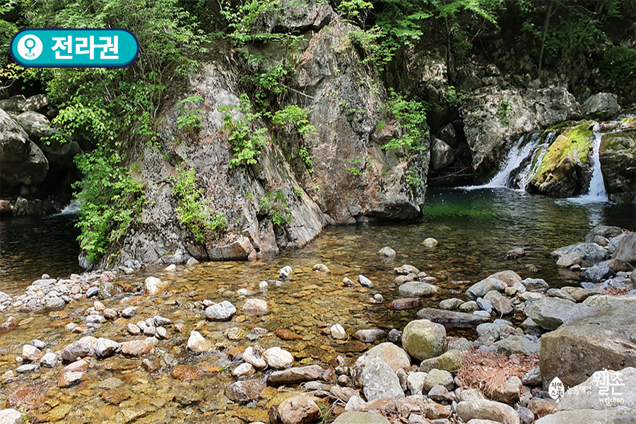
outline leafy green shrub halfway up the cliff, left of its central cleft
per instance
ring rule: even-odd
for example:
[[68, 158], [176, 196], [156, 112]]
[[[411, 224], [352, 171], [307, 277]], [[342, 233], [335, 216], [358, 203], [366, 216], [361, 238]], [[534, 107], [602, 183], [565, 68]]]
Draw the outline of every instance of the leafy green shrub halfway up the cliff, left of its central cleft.
[[256, 157], [261, 152], [259, 149], [269, 141], [266, 136], [267, 128], [263, 127], [252, 131], [255, 120], [261, 118], [261, 113], [252, 110], [247, 94], [240, 96], [241, 104], [220, 107], [223, 113], [223, 129], [230, 131], [230, 144], [234, 152], [234, 158], [230, 159], [229, 167], [234, 168], [245, 161], [247, 165], [257, 163]]

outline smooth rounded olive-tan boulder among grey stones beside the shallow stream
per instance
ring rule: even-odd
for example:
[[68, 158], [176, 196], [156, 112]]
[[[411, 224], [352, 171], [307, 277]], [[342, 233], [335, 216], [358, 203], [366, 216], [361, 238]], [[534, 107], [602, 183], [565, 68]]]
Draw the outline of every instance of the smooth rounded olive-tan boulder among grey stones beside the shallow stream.
[[413, 358], [435, 358], [444, 352], [446, 329], [428, 319], [416, 319], [404, 327], [402, 346]]

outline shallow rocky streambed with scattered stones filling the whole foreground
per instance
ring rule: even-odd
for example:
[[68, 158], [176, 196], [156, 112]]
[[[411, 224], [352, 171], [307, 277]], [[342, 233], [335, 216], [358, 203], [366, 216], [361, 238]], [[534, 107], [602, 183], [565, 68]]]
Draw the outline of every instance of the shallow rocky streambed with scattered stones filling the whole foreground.
[[0, 422], [636, 417], [636, 235], [598, 227], [556, 250], [585, 280], [560, 288], [510, 270], [447, 281], [396, 250], [366, 276], [329, 260], [131, 263], [0, 295]]

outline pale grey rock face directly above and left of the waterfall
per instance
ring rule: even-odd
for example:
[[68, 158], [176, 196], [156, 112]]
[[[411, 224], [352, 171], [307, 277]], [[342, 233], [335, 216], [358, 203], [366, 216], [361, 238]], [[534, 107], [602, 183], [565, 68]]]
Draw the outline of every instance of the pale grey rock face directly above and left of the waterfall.
[[562, 87], [495, 90], [490, 86], [474, 90], [459, 114], [464, 119], [478, 182], [488, 180], [504, 155], [502, 147], [507, 140], [558, 124], [579, 112], [574, 96]]

